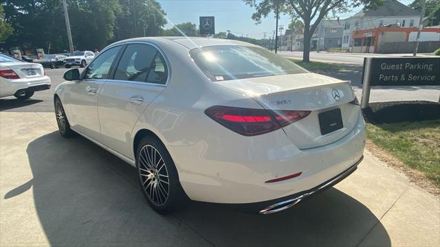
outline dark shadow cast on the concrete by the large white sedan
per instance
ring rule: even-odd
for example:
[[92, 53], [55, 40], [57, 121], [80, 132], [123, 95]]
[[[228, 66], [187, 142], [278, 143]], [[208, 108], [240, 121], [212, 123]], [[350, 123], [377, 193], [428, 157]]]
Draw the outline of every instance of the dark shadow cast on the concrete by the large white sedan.
[[51, 244], [357, 246], [376, 227], [377, 245], [391, 246], [377, 217], [338, 189], [273, 215], [202, 202], [159, 215], [138, 189], [135, 168], [82, 137], [63, 139], [52, 132], [32, 141], [27, 153], [33, 179], [5, 199], [32, 186]]

